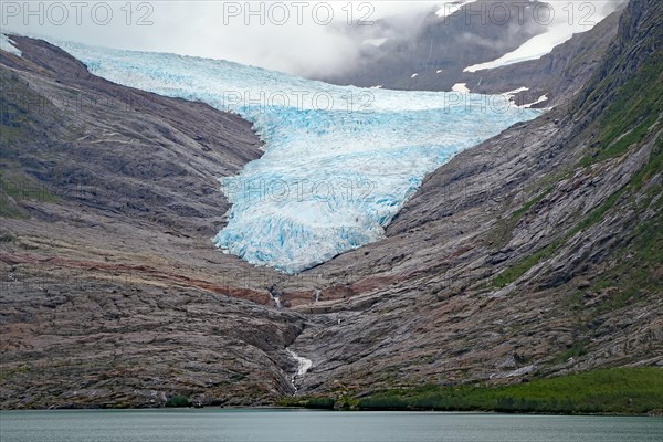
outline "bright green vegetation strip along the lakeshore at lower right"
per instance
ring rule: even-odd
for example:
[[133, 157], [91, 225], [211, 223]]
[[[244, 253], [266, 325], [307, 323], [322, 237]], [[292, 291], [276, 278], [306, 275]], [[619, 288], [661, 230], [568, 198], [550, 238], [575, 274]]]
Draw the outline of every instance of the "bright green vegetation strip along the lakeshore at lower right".
[[[582, 351], [580, 347], [576, 350]], [[663, 410], [663, 369], [613, 368], [502, 387], [394, 389], [359, 398], [351, 408], [644, 414]]]

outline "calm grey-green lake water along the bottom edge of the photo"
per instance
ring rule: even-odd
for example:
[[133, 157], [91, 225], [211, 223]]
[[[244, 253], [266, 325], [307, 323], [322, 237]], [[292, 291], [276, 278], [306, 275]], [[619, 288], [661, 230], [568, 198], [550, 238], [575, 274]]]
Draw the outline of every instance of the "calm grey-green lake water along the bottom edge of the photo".
[[661, 442], [663, 419], [303, 410], [0, 412], [2, 442]]

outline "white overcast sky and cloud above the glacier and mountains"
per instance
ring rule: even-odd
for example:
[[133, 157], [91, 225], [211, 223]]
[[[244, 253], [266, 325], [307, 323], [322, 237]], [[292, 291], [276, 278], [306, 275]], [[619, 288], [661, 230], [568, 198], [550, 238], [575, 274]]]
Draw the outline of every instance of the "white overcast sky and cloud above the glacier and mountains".
[[[581, 32], [591, 28], [583, 23], [600, 21], [619, 1], [576, 1], [571, 8], [569, 0], [551, 3], [557, 23], [560, 17], [570, 18], [573, 10], [569, 19], [572, 31]], [[225, 59], [311, 74], [352, 64], [358, 42], [349, 28], [366, 29], [372, 21], [392, 15], [413, 20], [439, 10], [444, 2], [3, 0], [0, 13], [2, 32]]]

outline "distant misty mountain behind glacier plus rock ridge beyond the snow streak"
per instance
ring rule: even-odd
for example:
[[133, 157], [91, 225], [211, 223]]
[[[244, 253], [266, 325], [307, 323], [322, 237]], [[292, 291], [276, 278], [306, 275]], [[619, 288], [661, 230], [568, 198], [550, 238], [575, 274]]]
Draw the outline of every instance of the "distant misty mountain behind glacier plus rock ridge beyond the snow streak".
[[[529, 39], [547, 32], [537, 18], [548, 6], [482, 0], [465, 4], [450, 17], [425, 15], [413, 27], [378, 48], [366, 45], [357, 66], [320, 80], [358, 86], [396, 90], [451, 91], [464, 83], [477, 94], [513, 94], [518, 105], [552, 107], [568, 102], [581, 88], [601, 61], [617, 32], [625, 2], [587, 32], [575, 34], [540, 59], [502, 67], [464, 72], [465, 67], [497, 60]], [[508, 7], [508, 11], [505, 9]], [[525, 8], [525, 9], [523, 9]], [[376, 34], [390, 35], [387, 23], [369, 27]], [[415, 74], [415, 75], [414, 75]], [[539, 98], [546, 97], [547, 99]]]

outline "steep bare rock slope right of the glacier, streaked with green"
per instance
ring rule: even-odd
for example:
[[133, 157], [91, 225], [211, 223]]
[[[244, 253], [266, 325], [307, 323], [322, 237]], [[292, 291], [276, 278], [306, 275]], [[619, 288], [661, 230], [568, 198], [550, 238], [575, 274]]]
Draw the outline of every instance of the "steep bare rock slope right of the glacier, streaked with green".
[[460, 154], [385, 241], [323, 266], [357, 297], [296, 340], [305, 390], [663, 365], [661, 12], [633, 0], [570, 105]]

